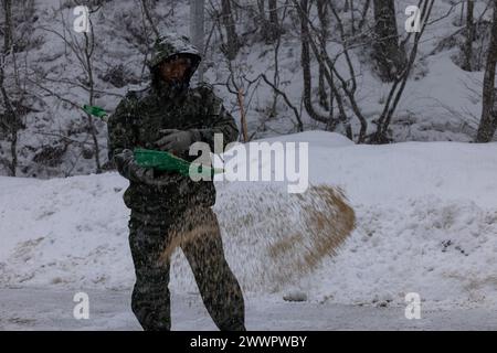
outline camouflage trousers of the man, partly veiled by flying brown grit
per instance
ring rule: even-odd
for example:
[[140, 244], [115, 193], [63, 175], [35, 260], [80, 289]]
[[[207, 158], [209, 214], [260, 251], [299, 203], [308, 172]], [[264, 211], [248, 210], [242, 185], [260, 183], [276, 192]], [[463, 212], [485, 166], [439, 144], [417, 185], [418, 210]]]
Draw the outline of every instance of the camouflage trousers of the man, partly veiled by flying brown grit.
[[129, 244], [136, 272], [131, 309], [144, 330], [170, 330], [169, 255], [176, 246], [186, 255], [218, 328], [245, 330], [242, 290], [224, 258], [218, 218], [210, 207], [161, 220], [131, 212]]

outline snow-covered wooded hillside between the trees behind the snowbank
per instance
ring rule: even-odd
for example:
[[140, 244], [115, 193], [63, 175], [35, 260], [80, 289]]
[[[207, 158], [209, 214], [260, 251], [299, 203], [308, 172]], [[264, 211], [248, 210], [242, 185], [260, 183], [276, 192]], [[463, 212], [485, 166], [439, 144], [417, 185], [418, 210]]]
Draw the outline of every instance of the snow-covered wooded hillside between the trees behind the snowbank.
[[[151, 15], [158, 29], [188, 34], [189, 1], [151, 1]], [[213, 1], [218, 6], [219, 1]], [[245, 2], [244, 2], [245, 3]], [[254, 4], [255, 1], [246, 1]], [[70, 43], [83, 43], [83, 35], [72, 30], [74, 20], [74, 1], [36, 0], [33, 2], [31, 22], [27, 21], [32, 32], [25, 36], [31, 40], [27, 51], [17, 53], [21, 65], [21, 78], [28, 77], [27, 85], [34, 97], [24, 103], [29, 105], [23, 121], [25, 129], [18, 133], [18, 175], [51, 178], [87, 174], [96, 171], [95, 147], [88, 135], [86, 117], [77, 107], [88, 103], [87, 77]], [[404, 10], [412, 4], [410, 0], [395, 1], [399, 33], [405, 36]], [[470, 141], [474, 140], [482, 114], [482, 68], [487, 36], [478, 32], [475, 39], [475, 55], [479, 53], [479, 69], [463, 71], [456, 63], [461, 56], [464, 38], [464, 21], [461, 21], [461, 4], [454, 1], [435, 1], [432, 22], [421, 41], [415, 67], [393, 116], [391, 129], [394, 141]], [[356, 4], [359, 18], [360, 4]], [[213, 9], [209, 6], [209, 11]], [[279, 15], [283, 15], [281, 7]], [[15, 8], [17, 9], [17, 8]], [[14, 10], [15, 10], [14, 9]], [[485, 2], [475, 3], [475, 19], [482, 18], [488, 23], [491, 11]], [[20, 10], [17, 10], [20, 11]], [[372, 28], [371, 9], [368, 12], [367, 28]], [[273, 89], [264, 82], [248, 85], [262, 73], [272, 78], [275, 74], [275, 45], [265, 44], [254, 32], [256, 21], [251, 12], [241, 10], [236, 30], [243, 40], [236, 58], [230, 63], [233, 74], [245, 95], [245, 110], [250, 135], [268, 138], [288, 132], [296, 132], [294, 111], [282, 97], [278, 98], [274, 116]], [[18, 17], [21, 17], [19, 13]], [[350, 25], [350, 12], [342, 12], [343, 21]], [[331, 17], [331, 14], [330, 14]], [[64, 23], [62, 22], [64, 20]], [[313, 19], [318, 22], [317, 19]], [[102, 8], [92, 18], [95, 32], [95, 52], [92, 58], [95, 81], [94, 104], [113, 111], [119, 99], [128, 89], [147, 85], [148, 69], [144, 60], [149, 54], [147, 44], [154, 39], [150, 28], [144, 26], [139, 1], [104, 1]], [[358, 19], [356, 19], [358, 21]], [[283, 21], [285, 33], [278, 47], [279, 89], [285, 92], [295, 107], [302, 106], [303, 71], [300, 66], [299, 24], [295, 11], [288, 11]], [[331, 21], [334, 36], [338, 36], [335, 21]], [[65, 25], [64, 25], [65, 24]], [[229, 62], [221, 52], [222, 41], [211, 15], [207, 18], [205, 31], [211, 31], [205, 55], [205, 79], [215, 85], [218, 94], [224, 99], [226, 108], [237, 122], [241, 121], [237, 95], [225, 86], [231, 75]], [[364, 30], [366, 31], [366, 30]], [[457, 34], [457, 35], [456, 35]], [[369, 33], [367, 35], [370, 35]], [[148, 43], [147, 43], [148, 41]], [[329, 42], [329, 53], [336, 54], [342, 49], [335, 38]], [[368, 132], [372, 132], [374, 121], [383, 109], [391, 83], [382, 83], [372, 68], [368, 45], [359, 43], [351, 51], [357, 71], [358, 105], [368, 121]], [[461, 61], [461, 60], [459, 60]], [[19, 63], [18, 63], [19, 65]], [[338, 63], [337, 65], [340, 65]], [[14, 87], [15, 65], [8, 61], [7, 81], [9, 88]], [[343, 69], [343, 67], [340, 67]], [[318, 64], [311, 58], [313, 101], [320, 109], [317, 100]], [[347, 73], [345, 69], [343, 72]], [[86, 87], [86, 89], [85, 89]], [[350, 107], [346, 106], [347, 110]], [[322, 110], [322, 109], [321, 109]], [[321, 111], [327, 114], [327, 111]], [[350, 111], [349, 111], [350, 113]], [[358, 119], [350, 113], [352, 128], [358, 131]], [[309, 118], [302, 109], [305, 130], [325, 129], [325, 125]], [[107, 163], [107, 133], [105, 124], [97, 121], [96, 140], [99, 146], [99, 162], [103, 170], [112, 168]], [[0, 157], [10, 160], [10, 143], [0, 136]], [[9, 174], [8, 168], [0, 163], [0, 173]]]

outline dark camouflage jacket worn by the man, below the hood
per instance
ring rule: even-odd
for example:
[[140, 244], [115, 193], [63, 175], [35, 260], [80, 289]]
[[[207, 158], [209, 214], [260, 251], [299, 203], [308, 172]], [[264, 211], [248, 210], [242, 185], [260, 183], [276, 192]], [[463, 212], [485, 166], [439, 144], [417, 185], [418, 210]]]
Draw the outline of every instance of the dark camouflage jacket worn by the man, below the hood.
[[[181, 97], [165, 98], [154, 87], [130, 92], [117, 106], [108, 121], [108, 156], [113, 160], [124, 149], [154, 149], [160, 129], [194, 130], [200, 141], [214, 151], [214, 133], [223, 135], [223, 148], [239, 136], [236, 122], [209, 85], [188, 89]], [[190, 160], [197, 157], [191, 157]], [[167, 182], [161, 186], [140, 183], [133, 173], [118, 170], [129, 180], [125, 204], [138, 213], [183, 211], [193, 204], [213, 205], [212, 181], [194, 182], [176, 172], [155, 171], [155, 178]]]

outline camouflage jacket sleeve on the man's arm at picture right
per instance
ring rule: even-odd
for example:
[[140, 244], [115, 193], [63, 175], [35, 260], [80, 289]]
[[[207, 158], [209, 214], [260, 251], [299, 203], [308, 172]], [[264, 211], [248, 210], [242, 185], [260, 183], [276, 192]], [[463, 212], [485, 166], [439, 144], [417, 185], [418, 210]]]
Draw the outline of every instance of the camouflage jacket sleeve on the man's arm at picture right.
[[223, 135], [223, 150], [228, 143], [234, 142], [239, 138], [239, 128], [233, 116], [224, 108], [223, 101], [211, 88], [203, 89], [207, 106], [208, 128], [193, 130], [195, 141], [209, 143], [214, 150], [214, 133]]

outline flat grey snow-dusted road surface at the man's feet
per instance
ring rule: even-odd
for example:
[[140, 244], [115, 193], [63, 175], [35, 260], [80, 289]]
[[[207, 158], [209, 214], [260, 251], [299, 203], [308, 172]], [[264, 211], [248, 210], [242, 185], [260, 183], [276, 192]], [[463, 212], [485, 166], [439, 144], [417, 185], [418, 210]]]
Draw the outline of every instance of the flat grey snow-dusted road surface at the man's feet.
[[[0, 330], [140, 330], [127, 291], [88, 291], [89, 319], [75, 320], [75, 291], [0, 289]], [[173, 330], [215, 330], [197, 295], [172, 296]], [[497, 311], [455, 309], [406, 320], [404, 308], [309, 302], [246, 303], [248, 330], [497, 330]]]

